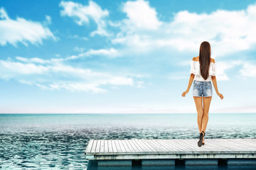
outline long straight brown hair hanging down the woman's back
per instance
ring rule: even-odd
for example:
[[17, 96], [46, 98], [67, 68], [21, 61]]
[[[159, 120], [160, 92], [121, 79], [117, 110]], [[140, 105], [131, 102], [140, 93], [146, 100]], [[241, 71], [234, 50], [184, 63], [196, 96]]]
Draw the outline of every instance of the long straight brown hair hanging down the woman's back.
[[199, 63], [201, 76], [203, 79], [207, 79], [210, 67], [210, 43], [207, 41], [202, 42], [200, 45]]

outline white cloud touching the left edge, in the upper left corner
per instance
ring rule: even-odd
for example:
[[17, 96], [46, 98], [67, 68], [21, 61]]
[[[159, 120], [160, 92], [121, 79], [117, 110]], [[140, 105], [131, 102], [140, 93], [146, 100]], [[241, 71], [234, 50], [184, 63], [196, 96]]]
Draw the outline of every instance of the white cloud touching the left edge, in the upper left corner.
[[[21, 42], [28, 46], [28, 42], [38, 45], [47, 38], [57, 40], [49, 28], [43, 24], [19, 17], [13, 20], [9, 18], [4, 8], [0, 8], [0, 18], [0, 45], [6, 45], [9, 42], [16, 46], [17, 42]], [[50, 23], [50, 16], [46, 16], [46, 23]]]

